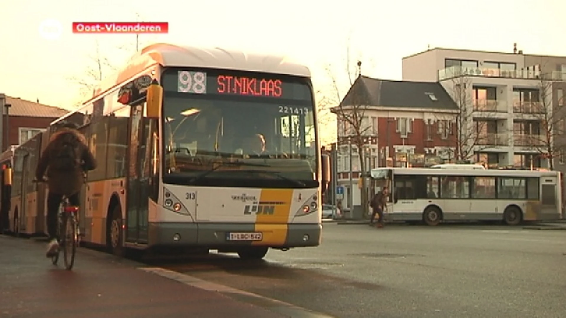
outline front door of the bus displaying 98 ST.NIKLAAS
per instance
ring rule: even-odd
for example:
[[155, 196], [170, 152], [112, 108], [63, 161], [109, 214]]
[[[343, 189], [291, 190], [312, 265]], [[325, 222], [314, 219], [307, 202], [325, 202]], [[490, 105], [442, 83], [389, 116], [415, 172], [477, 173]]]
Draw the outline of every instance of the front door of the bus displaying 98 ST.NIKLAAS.
[[151, 151], [148, 143], [149, 120], [144, 117], [145, 104], [134, 105], [130, 114], [130, 147], [128, 147], [126, 242], [148, 242], [149, 170], [146, 160]]

